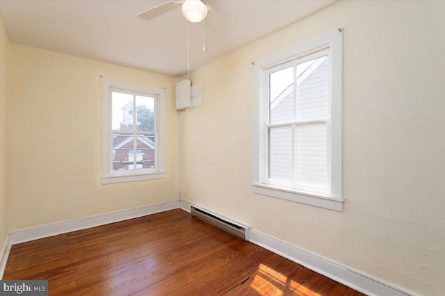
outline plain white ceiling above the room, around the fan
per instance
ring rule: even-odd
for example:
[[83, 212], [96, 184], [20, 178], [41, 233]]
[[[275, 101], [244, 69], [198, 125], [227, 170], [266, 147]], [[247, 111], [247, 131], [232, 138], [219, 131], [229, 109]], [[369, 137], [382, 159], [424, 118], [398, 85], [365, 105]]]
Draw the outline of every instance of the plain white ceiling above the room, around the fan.
[[[187, 72], [187, 22], [181, 10], [150, 21], [138, 13], [166, 0], [0, 0], [11, 42], [180, 77]], [[190, 25], [191, 69], [202, 67], [337, 0], [209, 0], [228, 34]]]

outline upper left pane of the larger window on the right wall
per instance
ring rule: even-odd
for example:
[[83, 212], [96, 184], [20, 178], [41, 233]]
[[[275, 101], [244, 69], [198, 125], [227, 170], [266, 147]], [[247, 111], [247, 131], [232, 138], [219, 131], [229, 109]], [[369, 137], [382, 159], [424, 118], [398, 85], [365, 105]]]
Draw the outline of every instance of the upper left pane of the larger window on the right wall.
[[293, 67], [269, 75], [271, 124], [293, 121]]

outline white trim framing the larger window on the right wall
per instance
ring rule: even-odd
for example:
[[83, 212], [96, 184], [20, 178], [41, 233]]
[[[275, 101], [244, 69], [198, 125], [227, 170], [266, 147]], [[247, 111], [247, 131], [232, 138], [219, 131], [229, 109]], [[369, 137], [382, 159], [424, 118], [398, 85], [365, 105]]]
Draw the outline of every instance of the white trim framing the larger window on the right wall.
[[[334, 211], [343, 211], [341, 192], [341, 31], [336, 30], [320, 38], [309, 40], [296, 47], [286, 49], [272, 56], [255, 62], [254, 65], [254, 165], [252, 189], [254, 193], [268, 195], [280, 199], [300, 202], [321, 208], [328, 208]], [[264, 124], [267, 121], [267, 114], [264, 110], [264, 76], [270, 67], [288, 63], [312, 54], [318, 49], [330, 49], [330, 69], [331, 69], [331, 99], [330, 99], [330, 129], [328, 129], [328, 147], [330, 156], [328, 157], [328, 170], [330, 170], [330, 195], [314, 192], [305, 192], [280, 186], [273, 186], [265, 183], [266, 174], [266, 151], [267, 142], [264, 140]]]

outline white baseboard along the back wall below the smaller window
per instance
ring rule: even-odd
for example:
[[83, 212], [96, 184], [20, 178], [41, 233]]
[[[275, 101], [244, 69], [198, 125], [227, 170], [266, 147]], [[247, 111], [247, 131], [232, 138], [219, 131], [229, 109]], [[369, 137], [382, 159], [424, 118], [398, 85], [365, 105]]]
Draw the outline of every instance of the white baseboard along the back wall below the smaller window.
[[87, 229], [90, 227], [97, 227], [113, 222], [129, 220], [136, 217], [151, 215], [154, 213], [170, 211], [175, 208], [179, 208], [179, 201], [141, 206], [138, 208], [130, 208], [129, 210], [124, 211], [116, 211], [76, 220], [47, 224], [39, 227], [32, 227], [29, 229], [20, 229], [9, 233], [10, 245], [16, 245], [21, 242], [29, 242], [31, 240], [38, 240], [39, 238], [47, 238], [49, 236], [56, 236], [58, 234]]

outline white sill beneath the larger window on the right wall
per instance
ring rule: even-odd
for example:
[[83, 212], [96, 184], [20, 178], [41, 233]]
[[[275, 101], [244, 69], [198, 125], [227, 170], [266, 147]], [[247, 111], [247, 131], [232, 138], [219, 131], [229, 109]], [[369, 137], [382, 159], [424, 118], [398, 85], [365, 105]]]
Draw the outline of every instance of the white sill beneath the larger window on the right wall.
[[318, 195], [316, 193], [301, 192], [289, 188], [282, 188], [267, 184], [252, 183], [254, 193], [260, 195], [268, 195], [280, 199], [290, 200], [292, 202], [299, 202], [301, 204], [309, 204], [311, 206], [318, 206], [320, 208], [327, 208], [334, 211], [343, 211], [343, 198], [330, 197], [327, 195]]

